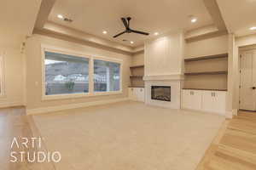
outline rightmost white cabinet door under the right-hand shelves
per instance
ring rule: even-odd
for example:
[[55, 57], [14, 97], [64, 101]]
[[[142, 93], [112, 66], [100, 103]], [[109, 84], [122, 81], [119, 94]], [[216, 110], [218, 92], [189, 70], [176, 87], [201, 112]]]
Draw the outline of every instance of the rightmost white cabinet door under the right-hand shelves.
[[225, 113], [226, 111], [226, 92], [213, 92], [214, 112]]

